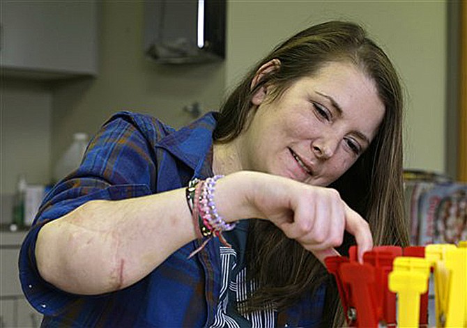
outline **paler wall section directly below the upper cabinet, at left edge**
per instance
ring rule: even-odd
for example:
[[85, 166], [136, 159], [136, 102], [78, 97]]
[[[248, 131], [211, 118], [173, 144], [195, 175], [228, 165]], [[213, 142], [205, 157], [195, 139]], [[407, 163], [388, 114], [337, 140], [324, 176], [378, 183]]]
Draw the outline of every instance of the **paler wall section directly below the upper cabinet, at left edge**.
[[1, 80], [1, 194], [15, 192], [20, 173], [49, 182], [52, 92], [43, 84]]

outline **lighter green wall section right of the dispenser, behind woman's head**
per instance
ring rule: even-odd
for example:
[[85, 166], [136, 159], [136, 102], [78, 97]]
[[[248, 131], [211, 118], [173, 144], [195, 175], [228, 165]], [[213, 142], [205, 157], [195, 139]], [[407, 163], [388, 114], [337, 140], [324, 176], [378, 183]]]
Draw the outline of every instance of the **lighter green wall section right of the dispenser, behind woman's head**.
[[446, 1], [229, 1], [227, 85], [273, 45], [330, 19], [363, 24], [406, 92], [404, 166], [445, 172]]

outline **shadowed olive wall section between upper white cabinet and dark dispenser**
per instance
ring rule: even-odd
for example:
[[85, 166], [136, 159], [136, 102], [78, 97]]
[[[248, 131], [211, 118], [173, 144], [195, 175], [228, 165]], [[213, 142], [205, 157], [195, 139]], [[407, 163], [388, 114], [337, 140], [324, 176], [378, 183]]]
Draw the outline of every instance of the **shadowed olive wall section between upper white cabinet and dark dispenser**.
[[151, 114], [181, 127], [192, 120], [183, 107], [219, 107], [224, 62], [160, 65], [144, 56], [143, 1], [100, 1], [99, 72], [54, 89], [52, 164], [74, 132], [94, 134], [116, 111]]

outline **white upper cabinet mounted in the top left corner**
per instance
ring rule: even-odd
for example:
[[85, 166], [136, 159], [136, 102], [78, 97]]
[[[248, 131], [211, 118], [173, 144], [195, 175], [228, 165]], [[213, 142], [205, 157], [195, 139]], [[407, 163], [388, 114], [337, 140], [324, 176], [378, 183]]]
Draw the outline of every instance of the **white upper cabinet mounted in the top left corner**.
[[2, 74], [53, 78], [98, 71], [96, 0], [1, 3]]

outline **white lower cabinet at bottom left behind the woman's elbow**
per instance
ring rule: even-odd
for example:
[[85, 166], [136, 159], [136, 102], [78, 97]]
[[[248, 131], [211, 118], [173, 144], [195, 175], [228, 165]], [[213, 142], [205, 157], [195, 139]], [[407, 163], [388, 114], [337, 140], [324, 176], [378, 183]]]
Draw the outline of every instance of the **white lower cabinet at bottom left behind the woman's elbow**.
[[25, 232], [0, 231], [0, 327], [39, 327], [42, 315], [22, 294], [18, 256]]

